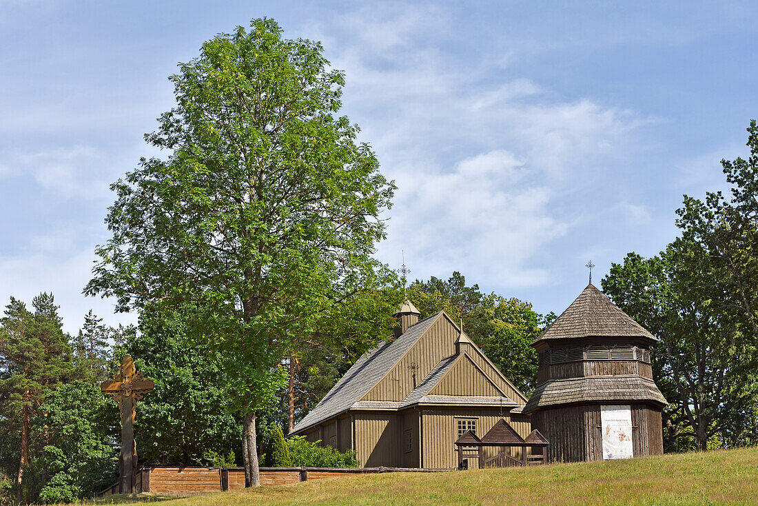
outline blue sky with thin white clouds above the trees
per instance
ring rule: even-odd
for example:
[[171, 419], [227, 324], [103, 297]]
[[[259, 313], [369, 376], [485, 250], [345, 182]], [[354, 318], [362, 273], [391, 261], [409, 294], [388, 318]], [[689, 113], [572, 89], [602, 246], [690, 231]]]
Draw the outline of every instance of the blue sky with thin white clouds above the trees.
[[90, 308], [135, 321], [81, 295], [108, 184], [155, 154], [177, 62], [262, 16], [346, 72], [343, 112], [399, 187], [377, 256], [542, 313], [587, 260], [599, 280], [666, 247], [758, 117], [755, 2], [0, 0], [0, 303], [52, 291], [68, 332]]

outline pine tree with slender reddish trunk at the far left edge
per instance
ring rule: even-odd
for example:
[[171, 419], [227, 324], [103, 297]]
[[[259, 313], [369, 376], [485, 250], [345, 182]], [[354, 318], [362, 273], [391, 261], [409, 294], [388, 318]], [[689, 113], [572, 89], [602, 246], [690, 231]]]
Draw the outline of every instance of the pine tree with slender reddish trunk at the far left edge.
[[[31, 461], [33, 420], [39, 416], [45, 395], [66, 380], [74, 369], [68, 337], [61, 328], [61, 317], [52, 294], [34, 297], [32, 307], [33, 312], [11, 297], [5, 317], [0, 320], [0, 402], [2, 413], [8, 417], [2, 424], [15, 426], [19, 434], [18, 502], [30, 498], [24, 473]], [[42, 431], [41, 438], [39, 445], [45, 445], [47, 430]]]

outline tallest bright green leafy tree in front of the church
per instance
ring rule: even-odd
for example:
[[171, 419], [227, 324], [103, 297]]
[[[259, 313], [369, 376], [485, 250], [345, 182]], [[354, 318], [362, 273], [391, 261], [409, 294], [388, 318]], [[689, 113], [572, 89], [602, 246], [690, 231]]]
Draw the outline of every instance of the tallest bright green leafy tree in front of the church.
[[255, 410], [283, 386], [293, 336], [393, 283], [371, 254], [395, 186], [339, 116], [343, 74], [274, 20], [205, 42], [171, 81], [177, 105], [146, 136], [167, 156], [112, 185], [112, 237], [85, 291], [121, 310], [196, 304], [193, 326], [229, 359], [254, 486]]

